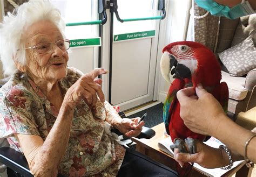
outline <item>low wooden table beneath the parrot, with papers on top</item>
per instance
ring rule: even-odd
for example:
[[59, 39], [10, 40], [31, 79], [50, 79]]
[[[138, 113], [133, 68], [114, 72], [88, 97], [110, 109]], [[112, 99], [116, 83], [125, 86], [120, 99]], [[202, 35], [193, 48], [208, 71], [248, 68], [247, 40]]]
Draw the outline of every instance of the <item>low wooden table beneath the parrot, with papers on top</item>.
[[[164, 123], [154, 126], [152, 129], [156, 131], [156, 135], [150, 139], [138, 139], [132, 137], [132, 140], [137, 143], [136, 150], [160, 162], [161, 164], [164, 164], [167, 167], [176, 170], [177, 162], [173, 159], [171, 155], [161, 151], [158, 147], [158, 142], [161, 139], [166, 138], [166, 136], [164, 135]], [[232, 176], [233, 174], [235, 174], [235, 176], [237, 177], [247, 177], [251, 176], [251, 173], [252, 168], [247, 168], [245, 162], [243, 162], [242, 164], [225, 173], [223, 176]], [[193, 168], [191, 171], [191, 176], [201, 177], [206, 175], [198, 171], [196, 168]]]

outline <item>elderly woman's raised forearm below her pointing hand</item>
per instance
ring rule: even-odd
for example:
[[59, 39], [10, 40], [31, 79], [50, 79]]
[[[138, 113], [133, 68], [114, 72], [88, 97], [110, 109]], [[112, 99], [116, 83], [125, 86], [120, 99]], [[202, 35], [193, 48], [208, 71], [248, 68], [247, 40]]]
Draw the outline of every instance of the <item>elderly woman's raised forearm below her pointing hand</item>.
[[65, 103], [59, 110], [56, 122], [53, 124], [43, 145], [33, 158], [30, 166], [36, 176], [52, 176], [56, 174], [58, 165], [63, 158], [69, 141], [70, 127], [73, 118], [73, 108]]

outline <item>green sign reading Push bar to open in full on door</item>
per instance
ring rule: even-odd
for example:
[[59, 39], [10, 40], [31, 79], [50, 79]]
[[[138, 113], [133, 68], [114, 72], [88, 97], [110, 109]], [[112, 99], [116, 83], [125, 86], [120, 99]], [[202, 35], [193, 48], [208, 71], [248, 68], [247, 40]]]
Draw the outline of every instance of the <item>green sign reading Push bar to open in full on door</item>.
[[134, 32], [134, 33], [126, 33], [126, 34], [117, 34], [114, 35], [114, 41], [120, 40], [130, 40], [130, 39], [137, 39], [137, 38], [146, 38], [152, 37], [156, 35], [156, 31], [142, 31], [142, 32]]

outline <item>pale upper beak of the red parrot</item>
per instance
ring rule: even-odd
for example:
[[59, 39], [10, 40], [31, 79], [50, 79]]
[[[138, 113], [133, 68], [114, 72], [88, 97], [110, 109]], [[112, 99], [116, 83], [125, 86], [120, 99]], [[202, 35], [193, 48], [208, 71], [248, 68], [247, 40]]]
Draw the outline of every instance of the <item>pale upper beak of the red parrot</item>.
[[161, 74], [167, 82], [171, 82], [170, 81], [171, 69], [170, 69], [170, 57], [169, 57], [169, 55], [170, 54], [168, 52], [164, 52], [164, 54], [162, 55], [161, 60], [160, 60]]

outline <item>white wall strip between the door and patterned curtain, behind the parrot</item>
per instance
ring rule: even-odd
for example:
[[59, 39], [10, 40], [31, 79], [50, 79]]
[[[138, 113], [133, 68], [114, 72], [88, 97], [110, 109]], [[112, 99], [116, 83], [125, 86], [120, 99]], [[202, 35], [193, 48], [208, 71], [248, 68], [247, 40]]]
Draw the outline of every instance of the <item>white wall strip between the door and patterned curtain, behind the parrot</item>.
[[[169, 43], [174, 41], [183, 41], [186, 39], [187, 26], [190, 18], [190, 0], [169, 0], [166, 3], [167, 16], [164, 34], [159, 36], [159, 47], [158, 47], [158, 60], [160, 60], [162, 52], [161, 50]], [[161, 32], [164, 30], [160, 29]], [[160, 73], [160, 69], [157, 70]], [[167, 92], [170, 87], [170, 83], [166, 82], [161, 73], [159, 74], [159, 93], [158, 101], [164, 102], [167, 96]]]

